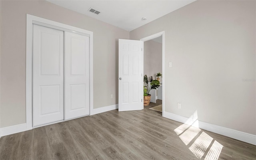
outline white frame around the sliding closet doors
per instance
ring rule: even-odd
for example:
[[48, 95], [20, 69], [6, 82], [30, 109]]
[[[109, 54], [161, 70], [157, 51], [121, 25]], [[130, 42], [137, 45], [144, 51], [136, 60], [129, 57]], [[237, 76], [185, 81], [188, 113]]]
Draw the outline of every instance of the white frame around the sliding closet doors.
[[[90, 39], [90, 86], [93, 86], [93, 32], [70, 26], [67, 24], [62, 24], [59, 22], [54, 22], [52, 20], [47, 20], [37, 16], [32, 16], [27, 14], [26, 22], [26, 130], [31, 130], [32, 126], [32, 40], [33, 40], [33, 24], [38, 24], [41, 26], [46, 26], [58, 30], [63, 30], [66, 32], [72, 32], [84, 36], [88, 36]], [[90, 115], [92, 115], [93, 110], [93, 87], [90, 87]], [[63, 120], [64, 121], [64, 120]], [[62, 122], [62, 121], [59, 121]], [[53, 122], [57, 123], [57, 122]], [[49, 123], [49, 124], [53, 124]], [[46, 124], [48, 125], [48, 124]], [[42, 125], [43, 126], [43, 125]]]

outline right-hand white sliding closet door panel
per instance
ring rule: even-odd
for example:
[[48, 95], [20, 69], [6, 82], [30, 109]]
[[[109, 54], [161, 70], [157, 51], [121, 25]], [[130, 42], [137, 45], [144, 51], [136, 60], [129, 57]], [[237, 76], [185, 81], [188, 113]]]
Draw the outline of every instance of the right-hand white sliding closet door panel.
[[90, 114], [89, 37], [65, 32], [65, 120]]

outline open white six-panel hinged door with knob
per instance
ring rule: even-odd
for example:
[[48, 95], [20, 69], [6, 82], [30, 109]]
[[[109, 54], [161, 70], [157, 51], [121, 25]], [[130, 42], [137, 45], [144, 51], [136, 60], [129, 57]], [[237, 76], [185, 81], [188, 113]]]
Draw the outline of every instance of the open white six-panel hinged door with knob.
[[143, 42], [119, 39], [118, 111], [143, 109]]

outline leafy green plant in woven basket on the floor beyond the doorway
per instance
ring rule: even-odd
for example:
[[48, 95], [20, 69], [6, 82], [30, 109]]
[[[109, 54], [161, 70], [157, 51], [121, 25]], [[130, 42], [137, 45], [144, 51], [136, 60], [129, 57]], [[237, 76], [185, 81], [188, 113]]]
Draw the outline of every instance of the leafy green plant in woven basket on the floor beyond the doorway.
[[149, 94], [149, 92], [152, 89], [158, 88], [160, 86], [160, 82], [159, 82], [159, 80], [152, 80], [152, 82], [150, 82], [150, 87], [148, 87], [148, 76], [146, 74], [144, 76], [144, 82], [146, 83], [146, 85], [143, 88], [143, 90], [144, 90], [144, 106], [148, 106], [150, 103], [150, 98], [151, 98], [151, 95]]

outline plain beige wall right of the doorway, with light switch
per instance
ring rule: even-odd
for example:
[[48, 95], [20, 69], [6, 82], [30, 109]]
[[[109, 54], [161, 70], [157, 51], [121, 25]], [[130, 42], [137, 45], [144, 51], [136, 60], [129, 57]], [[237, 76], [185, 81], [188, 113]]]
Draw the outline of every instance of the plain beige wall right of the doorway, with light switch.
[[198, 0], [130, 38], [165, 31], [165, 112], [256, 135], [255, 28], [256, 1]]

